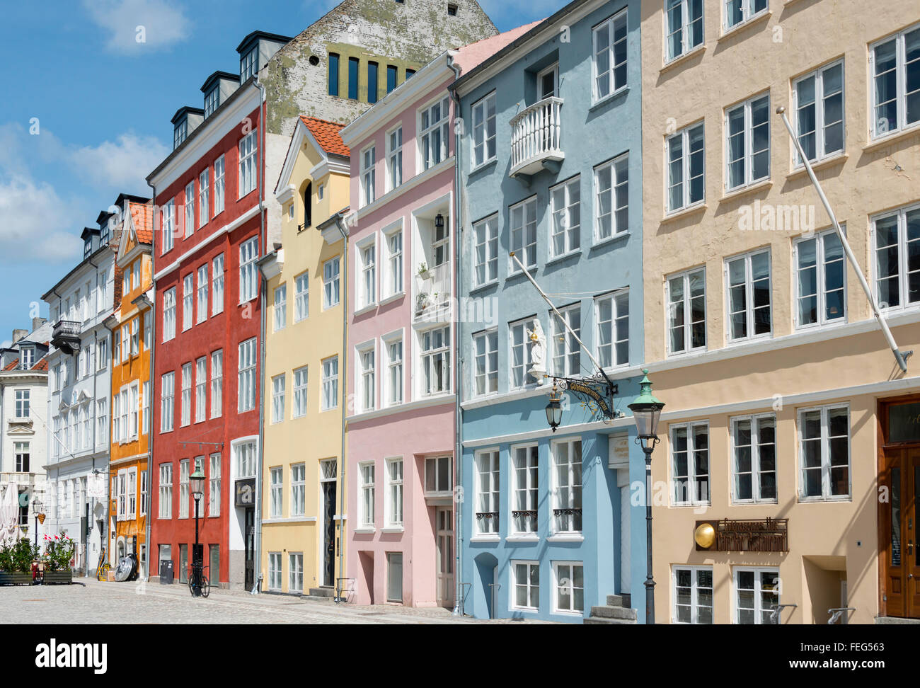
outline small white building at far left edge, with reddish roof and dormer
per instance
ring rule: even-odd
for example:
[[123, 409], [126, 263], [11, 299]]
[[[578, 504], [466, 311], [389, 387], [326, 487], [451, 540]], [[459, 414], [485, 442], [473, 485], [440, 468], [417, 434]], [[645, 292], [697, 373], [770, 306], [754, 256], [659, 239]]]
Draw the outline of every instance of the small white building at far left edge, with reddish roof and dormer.
[[19, 506], [17, 530], [0, 532], [39, 541], [48, 522], [35, 516], [47, 510], [45, 468], [47, 458], [48, 349], [52, 327], [44, 318], [32, 320], [32, 331], [13, 330], [12, 345], [0, 349], [0, 499], [16, 491]]

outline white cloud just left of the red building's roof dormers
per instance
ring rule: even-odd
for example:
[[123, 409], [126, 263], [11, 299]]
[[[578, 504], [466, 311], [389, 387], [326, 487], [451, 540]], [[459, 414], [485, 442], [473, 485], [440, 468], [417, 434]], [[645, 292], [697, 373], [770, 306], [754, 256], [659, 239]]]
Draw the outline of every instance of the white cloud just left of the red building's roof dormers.
[[68, 153], [76, 172], [101, 187], [119, 187], [130, 193], [147, 192], [145, 177], [163, 162], [169, 149], [153, 136], [132, 132], [120, 134], [114, 142], [84, 146]]

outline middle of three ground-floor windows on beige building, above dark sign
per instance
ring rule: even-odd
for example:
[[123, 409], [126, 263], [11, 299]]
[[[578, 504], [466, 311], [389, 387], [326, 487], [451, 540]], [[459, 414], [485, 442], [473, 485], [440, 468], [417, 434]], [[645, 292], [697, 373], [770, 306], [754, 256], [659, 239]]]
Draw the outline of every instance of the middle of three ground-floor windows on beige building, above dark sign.
[[776, 501], [776, 416], [731, 419], [733, 502]]

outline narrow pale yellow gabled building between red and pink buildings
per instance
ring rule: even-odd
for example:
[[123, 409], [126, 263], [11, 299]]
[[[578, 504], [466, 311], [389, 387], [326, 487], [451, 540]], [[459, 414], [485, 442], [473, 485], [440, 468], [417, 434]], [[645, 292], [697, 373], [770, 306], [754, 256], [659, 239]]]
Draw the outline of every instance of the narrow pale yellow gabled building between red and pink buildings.
[[301, 117], [275, 197], [282, 244], [259, 261], [265, 309], [263, 591], [331, 596], [344, 545], [342, 358], [349, 149]]

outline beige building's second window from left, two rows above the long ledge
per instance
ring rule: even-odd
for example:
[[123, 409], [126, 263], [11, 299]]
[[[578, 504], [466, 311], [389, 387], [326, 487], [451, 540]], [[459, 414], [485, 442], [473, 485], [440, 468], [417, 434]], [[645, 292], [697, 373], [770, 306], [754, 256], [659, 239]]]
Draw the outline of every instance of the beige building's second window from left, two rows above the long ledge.
[[725, 110], [725, 189], [770, 176], [770, 96]]

